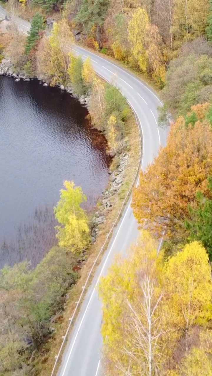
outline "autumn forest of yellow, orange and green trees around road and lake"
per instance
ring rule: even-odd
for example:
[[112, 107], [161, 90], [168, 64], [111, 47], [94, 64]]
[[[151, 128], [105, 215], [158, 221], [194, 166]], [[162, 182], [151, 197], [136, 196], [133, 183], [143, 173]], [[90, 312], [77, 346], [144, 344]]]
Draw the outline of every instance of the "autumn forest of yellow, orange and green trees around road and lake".
[[[169, 127], [166, 147], [140, 171], [132, 192], [137, 244], [127, 258], [118, 255], [100, 281], [104, 375], [212, 376], [212, 0], [20, 2], [22, 17], [28, 8], [33, 13], [31, 30], [27, 38], [17, 30], [0, 36], [0, 61], [9, 55], [52, 86], [70, 84], [78, 96], [89, 92], [92, 123], [115, 154], [128, 132], [129, 107], [117, 88], [95, 75], [90, 59], [70, 53], [77, 42], [149, 83], [163, 102], [158, 124]], [[44, 32], [47, 17], [56, 19], [51, 36]], [[4, 332], [1, 375], [27, 374], [19, 373], [32, 356], [29, 349], [26, 356], [18, 352], [23, 327], [38, 349], [49, 317], [61, 309], [64, 280], [68, 286], [77, 281], [69, 269], [90, 242], [89, 220], [81, 190], [70, 182], [65, 188], [55, 208], [61, 226], [52, 258], [35, 271], [23, 264], [0, 276], [5, 320], [15, 332], [11, 341]], [[46, 300], [31, 298], [38, 285]], [[21, 312], [18, 329], [14, 304]]]

